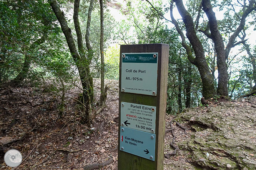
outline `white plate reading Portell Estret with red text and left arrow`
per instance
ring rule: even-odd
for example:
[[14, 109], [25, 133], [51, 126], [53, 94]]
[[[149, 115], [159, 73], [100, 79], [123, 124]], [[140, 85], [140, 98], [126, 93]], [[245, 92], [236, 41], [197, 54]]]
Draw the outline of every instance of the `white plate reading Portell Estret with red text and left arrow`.
[[121, 126], [155, 134], [156, 107], [121, 102]]

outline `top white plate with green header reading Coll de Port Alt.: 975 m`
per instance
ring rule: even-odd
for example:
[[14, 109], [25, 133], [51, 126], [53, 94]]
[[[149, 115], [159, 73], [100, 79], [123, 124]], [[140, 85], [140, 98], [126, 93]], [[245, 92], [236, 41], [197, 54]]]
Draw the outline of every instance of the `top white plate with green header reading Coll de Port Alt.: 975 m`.
[[122, 53], [121, 92], [156, 96], [158, 52]]

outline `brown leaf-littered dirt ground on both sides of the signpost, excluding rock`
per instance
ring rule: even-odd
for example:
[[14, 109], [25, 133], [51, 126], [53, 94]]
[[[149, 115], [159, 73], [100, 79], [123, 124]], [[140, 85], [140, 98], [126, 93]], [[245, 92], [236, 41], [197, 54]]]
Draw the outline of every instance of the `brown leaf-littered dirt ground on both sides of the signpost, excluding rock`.
[[[23, 157], [20, 166], [10, 168], [5, 164], [2, 153], [0, 169], [82, 170], [86, 165], [113, 158], [113, 163], [101, 169], [117, 170], [118, 81], [106, 80], [106, 84], [110, 87], [106, 108], [95, 115], [91, 127], [80, 123], [80, 110], [71, 98], [66, 98], [65, 113], [60, 117], [60, 98], [52, 93], [31, 87], [0, 89], [0, 147], [4, 152], [17, 149]], [[95, 91], [99, 91], [98, 81], [95, 82]], [[69, 90], [66, 96], [77, 98], [77, 90]], [[173, 118], [166, 115], [166, 129], [170, 129]], [[185, 133], [177, 126], [173, 132], [176, 141], [190, 137], [190, 130]], [[171, 132], [166, 132], [165, 154], [173, 152], [169, 145], [172, 138]], [[190, 168], [187, 169], [194, 169], [184, 155], [165, 158], [164, 169], [177, 167], [175, 169], [179, 170], [181, 164], [188, 164]]]

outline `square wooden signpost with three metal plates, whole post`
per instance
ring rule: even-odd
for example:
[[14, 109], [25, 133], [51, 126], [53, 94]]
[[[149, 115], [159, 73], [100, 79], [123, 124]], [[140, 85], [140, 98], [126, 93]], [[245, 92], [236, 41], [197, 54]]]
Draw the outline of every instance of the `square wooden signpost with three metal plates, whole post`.
[[120, 47], [118, 170], [163, 170], [169, 45]]

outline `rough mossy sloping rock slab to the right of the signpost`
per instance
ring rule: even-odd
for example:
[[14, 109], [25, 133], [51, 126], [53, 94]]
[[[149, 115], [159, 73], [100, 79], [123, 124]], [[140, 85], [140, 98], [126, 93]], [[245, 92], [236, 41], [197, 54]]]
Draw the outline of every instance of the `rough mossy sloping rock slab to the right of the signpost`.
[[184, 162], [166, 160], [169, 169], [256, 169], [256, 96], [188, 109], [175, 120], [190, 130], [176, 136], [180, 150], [170, 158]]

